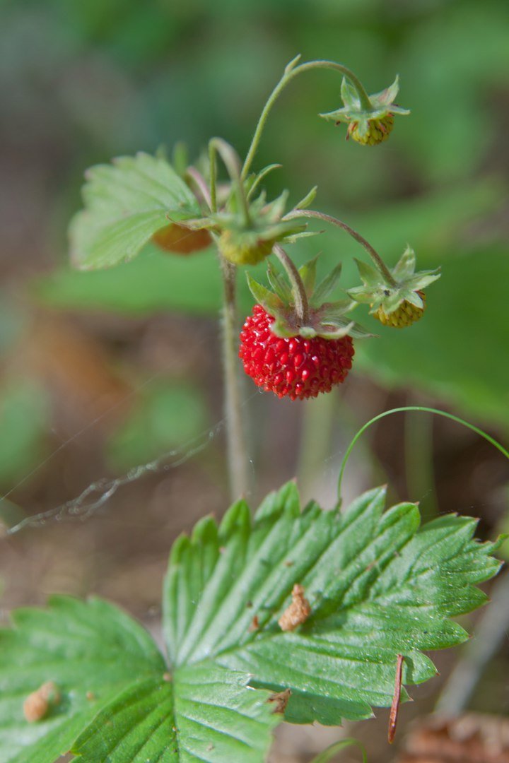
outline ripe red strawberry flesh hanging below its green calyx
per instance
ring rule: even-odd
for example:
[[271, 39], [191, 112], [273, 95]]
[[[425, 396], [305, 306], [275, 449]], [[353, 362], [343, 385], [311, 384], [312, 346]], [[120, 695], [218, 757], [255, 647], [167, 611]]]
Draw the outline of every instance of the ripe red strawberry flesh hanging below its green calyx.
[[316, 398], [340, 384], [352, 367], [351, 336], [341, 339], [281, 339], [270, 330], [274, 319], [259, 304], [240, 332], [239, 357], [259, 387], [279, 398]]

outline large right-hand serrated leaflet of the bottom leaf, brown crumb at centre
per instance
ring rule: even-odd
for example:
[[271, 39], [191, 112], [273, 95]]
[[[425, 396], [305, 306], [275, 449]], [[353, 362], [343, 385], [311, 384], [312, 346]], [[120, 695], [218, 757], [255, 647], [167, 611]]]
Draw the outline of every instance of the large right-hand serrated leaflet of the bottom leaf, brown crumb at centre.
[[[291, 484], [252, 523], [235, 504], [217, 536], [193, 536], [170, 560], [163, 609], [172, 663], [211, 661], [249, 671], [253, 687], [289, 688], [285, 716], [294, 723], [359, 720], [388, 706], [398, 653], [404, 683], [432, 678], [422, 650], [466, 638], [448, 618], [482, 604], [473, 584], [499, 564], [493, 544], [472, 540], [474, 520], [440, 517], [420, 529], [414, 504], [384, 512], [384, 502], [377, 489], [343, 513], [311, 504], [298, 514]], [[295, 583], [311, 616], [283, 633], [278, 620]]]

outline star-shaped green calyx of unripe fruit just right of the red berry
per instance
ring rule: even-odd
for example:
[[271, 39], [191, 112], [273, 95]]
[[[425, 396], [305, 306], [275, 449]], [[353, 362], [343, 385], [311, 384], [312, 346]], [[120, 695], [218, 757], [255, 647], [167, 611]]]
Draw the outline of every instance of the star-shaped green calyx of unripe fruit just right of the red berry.
[[410, 246], [404, 250], [395, 267], [388, 270], [391, 278], [366, 262], [356, 259], [356, 263], [364, 285], [348, 289], [347, 294], [356, 302], [369, 304], [372, 314], [382, 308], [385, 314], [390, 315], [404, 301], [424, 309], [419, 291], [440, 278], [439, 269], [415, 272], [415, 253]]

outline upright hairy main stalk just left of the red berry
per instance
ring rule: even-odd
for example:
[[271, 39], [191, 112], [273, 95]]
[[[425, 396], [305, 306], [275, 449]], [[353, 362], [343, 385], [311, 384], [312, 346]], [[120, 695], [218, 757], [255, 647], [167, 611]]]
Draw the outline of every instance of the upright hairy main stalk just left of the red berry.
[[237, 357], [236, 267], [221, 257], [223, 273], [223, 373], [224, 414], [227, 430], [230, 497], [237, 501], [248, 494], [247, 450], [240, 401], [240, 364]]

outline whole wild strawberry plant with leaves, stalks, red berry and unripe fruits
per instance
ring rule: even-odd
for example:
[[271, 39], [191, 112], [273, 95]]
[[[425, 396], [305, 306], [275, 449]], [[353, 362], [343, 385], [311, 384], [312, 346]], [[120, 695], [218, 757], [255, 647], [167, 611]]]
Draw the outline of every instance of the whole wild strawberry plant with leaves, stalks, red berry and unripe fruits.
[[[475, 520], [446, 515], [421, 527], [416, 504], [385, 509], [383, 488], [326, 511], [314, 501], [301, 507], [290, 483], [253, 516], [242, 497], [240, 359], [256, 385], [279, 397], [327, 393], [346, 378], [354, 343], [369, 336], [353, 310], [366, 303], [382, 324], [410, 327], [424, 313], [424, 289], [439, 277], [416, 272], [409, 247], [389, 269], [360, 233], [310, 209], [316, 188], [291, 208], [287, 192], [267, 201], [263, 182], [278, 165], [252, 169], [263, 128], [285, 86], [312, 69], [343, 75], [343, 107], [321, 116], [345, 122], [346, 137], [363, 145], [386, 140], [395, 115], [408, 114], [394, 103], [398, 80], [368, 95], [345, 66], [297, 58], [269, 96], [243, 162], [214, 137], [201, 171], [182, 154], [172, 165], [163, 153], [140, 153], [87, 173], [84, 208], [70, 226], [77, 268], [114, 266], [150, 241], [181, 256], [216, 246], [234, 503], [221, 523], [205, 517], [172, 547], [164, 653], [97, 598], [53, 597], [45, 609], [14, 612], [0, 649], [6, 763], [53, 763], [66, 752], [91, 763], [263, 761], [283, 719], [369, 718], [373, 707], [397, 703], [396, 674], [406, 685], [433, 678], [424, 651], [464, 641], [451, 618], [485, 602], [476, 586], [498, 571], [497, 543], [473, 538]], [[218, 159], [227, 174], [220, 182]], [[357, 263], [362, 284], [343, 298], [329, 300], [340, 262], [317, 282], [316, 258], [298, 268], [288, 254], [316, 234], [312, 221], [349, 233], [372, 261]], [[264, 260], [266, 285], [249, 273]], [[238, 268], [247, 269], [256, 303], [240, 336]]]

